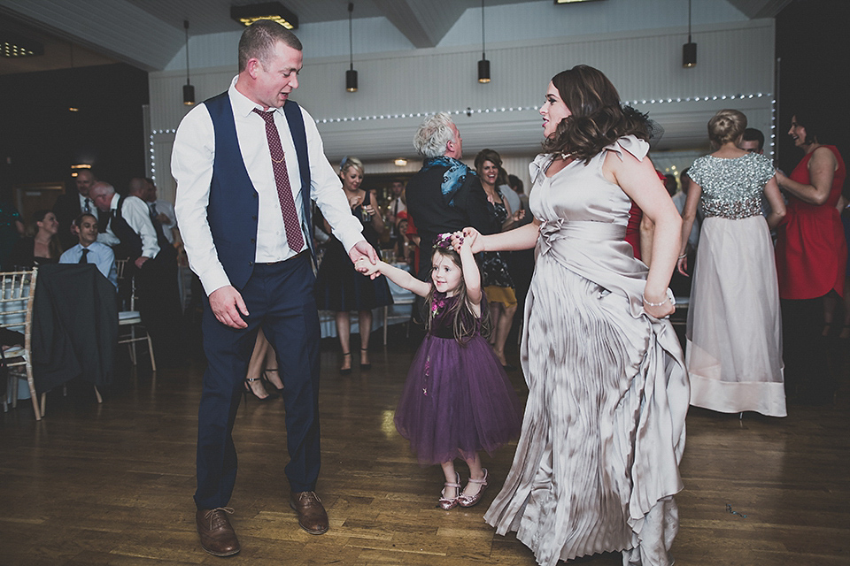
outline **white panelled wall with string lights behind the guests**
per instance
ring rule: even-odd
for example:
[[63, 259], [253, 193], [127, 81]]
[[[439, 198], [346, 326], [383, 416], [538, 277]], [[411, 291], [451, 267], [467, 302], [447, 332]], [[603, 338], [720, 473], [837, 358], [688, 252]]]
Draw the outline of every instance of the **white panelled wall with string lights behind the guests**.
[[[695, 28], [699, 64], [692, 69], [681, 65], [685, 32], [684, 27], [676, 27], [489, 43], [487, 57], [493, 80], [487, 85], [475, 80], [476, 61], [481, 57], [477, 48], [361, 56], [355, 61], [360, 87], [357, 93], [344, 90], [347, 57], [310, 58], [305, 51], [305, 68], [293, 98], [318, 121], [332, 161], [346, 154], [366, 161], [391, 157], [415, 161], [411, 140], [422, 115], [443, 110], [459, 112], [455, 118], [467, 157], [474, 157], [483, 147], [510, 156], [533, 156], [542, 134], [537, 106], [546, 83], [553, 74], [582, 63], [605, 72], [624, 101], [649, 111], [665, 127], [661, 149], [704, 146], [707, 120], [726, 107], [745, 111], [750, 124], [769, 137], [773, 20]], [[235, 59], [234, 55], [232, 66], [192, 73], [198, 100], [228, 88], [236, 74]], [[174, 194], [173, 181], [163, 168], [173, 139], [170, 132], [187, 111], [182, 104], [185, 80], [181, 72], [150, 75], [151, 143], [164, 198]], [[741, 96], [746, 97], [742, 100]], [[471, 109], [471, 116], [466, 114], [467, 109]], [[520, 175], [516, 169], [522, 171], [522, 167], [513, 169], [511, 172]]]

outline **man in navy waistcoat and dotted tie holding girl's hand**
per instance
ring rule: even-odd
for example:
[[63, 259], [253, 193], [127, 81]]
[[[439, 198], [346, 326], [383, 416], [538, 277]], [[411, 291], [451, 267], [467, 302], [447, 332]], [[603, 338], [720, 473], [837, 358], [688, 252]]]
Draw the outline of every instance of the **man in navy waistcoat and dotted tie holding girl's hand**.
[[274, 346], [284, 385], [289, 503], [306, 532], [328, 530], [320, 468], [319, 316], [313, 298], [311, 200], [352, 261], [363, 239], [298, 88], [301, 42], [260, 20], [239, 42], [239, 74], [198, 104], [174, 139], [175, 209], [189, 265], [204, 286], [208, 367], [198, 411], [196, 524], [212, 555], [239, 552], [227, 508], [236, 482], [231, 435], [257, 331]]

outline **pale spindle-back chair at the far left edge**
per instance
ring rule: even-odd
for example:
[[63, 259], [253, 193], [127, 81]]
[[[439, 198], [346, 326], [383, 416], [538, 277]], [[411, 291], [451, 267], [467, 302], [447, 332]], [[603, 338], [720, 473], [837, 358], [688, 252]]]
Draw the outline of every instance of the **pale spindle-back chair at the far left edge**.
[[[4, 351], [6, 366], [23, 368], [27, 373], [29, 394], [33, 401], [35, 420], [42, 420], [42, 411], [38, 408], [38, 396], [35, 394], [33, 380], [33, 301], [35, 300], [35, 279], [38, 268], [27, 272], [0, 272], [0, 326], [24, 335], [24, 346], [15, 346]], [[18, 404], [18, 376], [10, 372], [10, 392], [12, 407]], [[4, 410], [7, 401], [4, 397]]]

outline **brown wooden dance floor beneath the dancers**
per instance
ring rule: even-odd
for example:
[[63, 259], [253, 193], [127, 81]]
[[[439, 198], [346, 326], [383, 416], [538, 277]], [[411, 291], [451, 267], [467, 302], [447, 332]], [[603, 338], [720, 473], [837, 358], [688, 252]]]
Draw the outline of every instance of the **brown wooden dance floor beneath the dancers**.
[[[327, 534], [302, 531], [290, 510], [282, 401], [249, 397], [236, 417], [239, 476], [230, 501], [242, 553], [222, 559], [201, 549], [191, 499], [204, 369], [197, 356], [188, 369], [156, 376], [125, 366], [128, 384], [105, 392], [103, 405], [88, 391], [72, 391], [50, 396], [41, 422], [28, 402], [3, 415], [0, 564], [532, 566], [528, 548], [482, 519], [514, 445], [483, 455], [491, 486], [481, 504], [436, 507], [441, 471], [416, 463], [392, 420], [416, 348], [402, 328], [392, 329], [386, 350], [375, 340], [370, 371], [360, 371], [355, 356], [348, 376], [336, 370], [338, 347], [322, 344], [317, 492], [330, 517]], [[783, 419], [692, 409], [677, 496], [677, 565], [850, 564], [850, 348], [838, 340], [835, 348], [842, 383], [834, 406], [792, 406]], [[511, 378], [524, 399], [522, 373]], [[466, 467], [459, 469], [465, 482]]]

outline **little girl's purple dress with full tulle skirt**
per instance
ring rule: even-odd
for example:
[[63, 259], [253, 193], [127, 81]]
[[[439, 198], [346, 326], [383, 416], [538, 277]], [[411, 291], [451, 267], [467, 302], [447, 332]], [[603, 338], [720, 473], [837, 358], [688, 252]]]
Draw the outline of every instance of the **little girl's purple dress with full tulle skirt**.
[[[469, 321], [475, 333], [463, 345], [454, 339], [446, 313], [458, 300], [460, 295], [435, 294], [437, 315], [413, 358], [396, 409], [396, 428], [422, 464], [474, 458], [482, 449], [491, 453], [518, 437], [522, 424], [514, 387], [478, 321]], [[487, 305], [482, 302], [481, 308]]]

